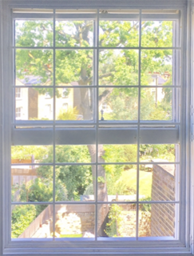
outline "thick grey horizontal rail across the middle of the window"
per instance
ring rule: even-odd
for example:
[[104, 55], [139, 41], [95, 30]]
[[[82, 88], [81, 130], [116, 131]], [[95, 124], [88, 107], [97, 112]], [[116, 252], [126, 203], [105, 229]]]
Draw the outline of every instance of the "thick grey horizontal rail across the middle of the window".
[[[56, 145], [94, 145], [96, 130], [61, 129], [56, 130]], [[99, 129], [99, 144], [136, 144], [137, 129]], [[141, 144], [177, 144], [178, 128], [143, 128], [140, 130]], [[14, 129], [12, 145], [53, 145], [52, 129]]]

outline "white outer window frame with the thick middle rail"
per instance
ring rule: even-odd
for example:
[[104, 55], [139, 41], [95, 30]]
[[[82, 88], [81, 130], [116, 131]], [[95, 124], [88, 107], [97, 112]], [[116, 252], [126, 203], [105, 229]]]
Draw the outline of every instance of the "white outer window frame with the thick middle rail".
[[[10, 200], [10, 194], [6, 193], [7, 186], [6, 184], [9, 184], [9, 175], [7, 175], [7, 171], [9, 170], [10, 165], [10, 142], [11, 139], [14, 140], [14, 143], [21, 143], [21, 139], [23, 140], [23, 143], [30, 144], [30, 138], [28, 141], [28, 132], [26, 130], [23, 130], [22, 133], [26, 134], [26, 138], [21, 136], [21, 133], [19, 130], [14, 130], [14, 126], [12, 126], [12, 129], [10, 129], [10, 124], [13, 122], [12, 114], [13, 111], [13, 104], [11, 102], [10, 95], [12, 95], [12, 88], [8, 86], [9, 84], [13, 83], [13, 78], [9, 76], [10, 74], [10, 63], [13, 63], [12, 54], [10, 54], [10, 24], [11, 24], [11, 17], [10, 17], [10, 10], [12, 8], [17, 7], [26, 7], [26, 8], [32, 8], [31, 2], [26, 2], [24, 0], [15, 0], [15, 1], [5, 1], [0, 0], [0, 10], [1, 10], [1, 22], [2, 24], [0, 26], [0, 42], [2, 42], [1, 50], [0, 50], [0, 145], [1, 145], [1, 154], [0, 154], [0, 164], [1, 164], [1, 171], [0, 171], [0, 252], [2, 255], [32, 255], [32, 254], [42, 254], [42, 255], [77, 255], [77, 254], [109, 254], [109, 255], [121, 255], [121, 254], [178, 254], [181, 255], [188, 255], [193, 253], [193, 222], [192, 219], [194, 217], [192, 207], [194, 204], [194, 198], [190, 198], [190, 193], [193, 190], [190, 190], [190, 181], [189, 178], [192, 175], [192, 179], [194, 177], [193, 175], [193, 168], [191, 168], [190, 165], [190, 114], [192, 110], [190, 110], [190, 89], [191, 89], [191, 68], [190, 68], [190, 59], [191, 56], [191, 37], [189, 36], [189, 33], [191, 32], [191, 10], [192, 10], [192, 1], [188, 1], [186, 5], [186, 1], [184, 0], [164, 0], [163, 2], [156, 2], [154, 0], [149, 0], [146, 2], [147, 5], [145, 6], [145, 1], [143, 0], [136, 0], [132, 3], [129, 3], [127, 0], [124, 0], [123, 2], [117, 2], [116, 0], [112, 1], [104, 1], [100, 0], [98, 2], [88, 2], [87, 0], [82, 2], [79, 2], [78, 0], [75, 0], [72, 4], [72, 1], [65, 0], [64, 2], [53, 2], [51, 0], [48, 0], [46, 2], [47, 7], [54, 8], [57, 6], [57, 8], [68, 8], [69, 9], [75, 9], [81, 8], [84, 6], [90, 6], [90, 8], [96, 9], [97, 7], [106, 9], [108, 6], [111, 8], [114, 6], [114, 8], [143, 8], [143, 9], [180, 9], [183, 12], [183, 20], [182, 20], [182, 26], [184, 29], [182, 31], [182, 38], [187, 38], [187, 40], [184, 40], [183, 44], [183, 63], [185, 66], [183, 66], [183, 83], [184, 83], [184, 90], [182, 90], [182, 119], [181, 122], [184, 123], [183, 129], [180, 133], [180, 139], [183, 142], [185, 150], [185, 155], [187, 158], [184, 158], [184, 161], [182, 161], [182, 169], [184, 168], [184, 173], [181, 174], [181, 186], [182, 191], [184, 191], [183, 194], [180, 195], [180, 202], [181, 202], [181, 214], [180, 214], [180, 240], [179, 241], [141, 241], [141, 242], [87, 242], [87, 246], [83, 246], [83, 242], [76, 242], [73, 244], [68, 244], [66, 246], [64, 242], [41, 242], [41, 241], [30, 241], [28, 243], [25, 242], [11, 242], [10, 238], [7, 236], [6, 230], [10, 229], [10, 226], [8, 225], [8, 216], [7, 216], [7, 209], [10, 210], [9, 206], [9, 200]], [[34, 8], [44, 8], [45, 4], [34, 0], [33, 7]], [[9, 58], [6, 58], [9, 56]], [[22, 122], [21, 122], [22, 124]], [[186, 125], [188, 124], [188, 125]], [[25, 122], [24, 124], [25, 125]], [[74, 125], [76, 126], [77, 123], [75, 122]], [[148, 140], [149, 144], [152, 142], [156, 142], [156, 138], [158, 137], [158, 134], [161, 134], [163, 132], [162, 128], [156, 128], [154, 129], [146, 129], [140, 133], [141, 142], [146, 143], [146, 138], [151, 138], [152, 140]], [[87, 138], [89, 138], [88, 143], [92, 143], [95, 139], [93, 130], [85, 130], [82, 129], [81, 131], [82, 138], [84, 141], [87, 141]], [[179, 130], [173, 129], [173, 128], [166, 128], [165, 134], [168, 134], [166, 137], [166, 142], [172, 142], [175, 143], [177, 140], [178, 142], [178, 134]], [[36, 134], [41, 134], [41, 131], [39, 130], [30, 130], [30, 133], [32, 134], [32, 137], [36, 137]], [[44, 133], [44, 130], [42, 131]], [[67, 134], [69, 133], [69, 130], [67, 130]], [[72, 133], [75, 134], [76, 137], [76, 131], [72, 131]], [[58, 130], [57, 135], [61, 136], [59, 139], [62, 139], [64, 137], [64, 133], [62, 133], [60, 130]], [[60, 135], [61, 134], [61, 135]], [[117, 138], [117, 134], [121, 134], [120, 140], [122, 140], [124, 143], [126, 141], [126, 137], [130, 137], [131, 139], [135, 138], [137, 136], [136, 131], [134, 130], [128, 130], [125, 128], [121, 128], [120, 130], [99, 130], [98, 136], [101, 137], [101, 141], [103, 142], [105, 137], [107, 137], [108, 134], [111, 134], [111, 140], [113, 137]], [[108, 136], [109, 137], [109, 136]], [[110, 138], [109, 137], [109, 138]], [[52, 131], [48, 130], [46, 132], [45, 138], [49, 138], [49, 140], [52, 138]], [[87, 142], [86, 142], [87, 143]], [[165, 142], [164, 142], [165, 143]], [[192, 142], [193, 143], [193, 142]], [[181, 153], [180, 153], [181, 154]], [[184, 152], [182, 152], [184, 154]], [[192, 162], [193, 164], [193, 162]], [[192, 172], [190, 171], [192, 170]], [[194, 185], [194, 182], [192, 181], [192, 185]], [[183, 190], [184, 188], [184, 190]], [[192, 193], [193, 194], [193, 193]], [[191, 232], [190, 232], [191, 230]]]

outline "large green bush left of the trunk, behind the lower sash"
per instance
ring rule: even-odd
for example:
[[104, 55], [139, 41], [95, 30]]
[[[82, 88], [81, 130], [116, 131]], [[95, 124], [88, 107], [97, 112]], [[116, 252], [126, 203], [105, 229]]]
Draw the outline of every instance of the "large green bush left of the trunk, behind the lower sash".
[[[87, 146], [56, 146], [56, 162], [91, 162], [91, 158]], [[49, 178], [51, 182], [52, 174], [52, 166], [39, 166], [40, 177]], [[92, 182], [91, 166], [56, 166], [55, 175], [56, 183], [63, 187], [68, 200], [77, 200]]]

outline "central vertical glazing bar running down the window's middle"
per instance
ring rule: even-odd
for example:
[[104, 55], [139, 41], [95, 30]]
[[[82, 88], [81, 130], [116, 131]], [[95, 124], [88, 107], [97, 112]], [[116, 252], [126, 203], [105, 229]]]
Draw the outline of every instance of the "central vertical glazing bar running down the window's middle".
[[99, 113], [98, 113], [98, 61], [99, 61], [99, 9], [97, 9], [97, 30], [96, 34], [96, 188], [95, 188], [95, 241], [97, 241], [97, 174], [98, 174], [98, 126], [99, 126]]

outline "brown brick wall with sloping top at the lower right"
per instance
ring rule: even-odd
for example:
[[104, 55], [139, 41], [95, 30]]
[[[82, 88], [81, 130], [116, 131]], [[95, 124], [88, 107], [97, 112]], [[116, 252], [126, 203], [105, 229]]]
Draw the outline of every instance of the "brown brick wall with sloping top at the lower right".
[[[175, 200], [174, 165], [153, 165], [152, 201]], [[151, 205], [151, 236], [174, 236], [174, 204]]]

